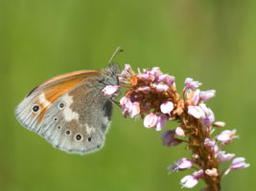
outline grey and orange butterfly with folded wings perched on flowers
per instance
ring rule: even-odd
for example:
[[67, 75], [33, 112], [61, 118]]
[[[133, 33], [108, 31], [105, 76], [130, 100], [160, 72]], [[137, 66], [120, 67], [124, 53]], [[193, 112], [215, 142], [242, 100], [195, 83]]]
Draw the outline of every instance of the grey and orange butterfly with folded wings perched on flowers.
[[119, 84], [119, 67], [111, 63], [120, 52], [118, 47], [104, 70], [61, 74], [38, 85], [15, 108], [16, 118], [67, 153], [101, 149], [118, 95], [106, 97], [102, 90]]

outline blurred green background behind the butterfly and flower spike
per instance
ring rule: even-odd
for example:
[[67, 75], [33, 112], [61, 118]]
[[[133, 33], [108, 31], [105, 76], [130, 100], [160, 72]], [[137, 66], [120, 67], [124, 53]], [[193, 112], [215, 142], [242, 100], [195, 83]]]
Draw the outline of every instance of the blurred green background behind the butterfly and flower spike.
[[189, 152], [164, 147], [160, 133], [117, 107], [105, 148], [88, 156], [54, 149], [14, 117], [36, 85], [105, 68], [120, 45], [122, 68], [159, 66], [175, 75], [180, 91], [187, 76], [203, 82], [202, 90], [217, 90], [207, 104], [240, 136], [225, 149], [251, 164], [230, 172], [222, 190], [255, 188], [255, 10], [252, 0], [0, 0], [0, 190], [181, 189], [179, 180], [192, 172], [168, 175], [166, 167]]

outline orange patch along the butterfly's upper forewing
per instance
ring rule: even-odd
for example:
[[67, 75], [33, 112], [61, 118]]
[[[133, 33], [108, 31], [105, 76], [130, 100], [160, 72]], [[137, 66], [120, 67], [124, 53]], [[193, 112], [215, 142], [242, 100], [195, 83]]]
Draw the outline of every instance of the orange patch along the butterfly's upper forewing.
[[[75, 74], [75, 73], [79, 73], [79, 72], [74, 72], [71, 74]], [[58, 82], [54, 83], [51, 86], [51, 82], [55, 81], [55, 80], [48, 80], [46, 82], [44, 82], [43, 84], [39, 85], [37, 88], [40, 88], [42, 86], [45, 86], [47, 84], [49, 84], [49, 87], [47, 87], [41, 94], [44, 94], [45, 99], [47, 101], [49, 101], [51, 104], [49, 106], [47, 106], [46, 108], [42, 108], [41, 112], [40, 112], [40, 116], [37, 119], [37, 123], [41, 123], [41, 121], [43, 120], [45, 113], [47, 112], [48, 108], [60, 97], [63, 96], [65, 93], [67, 93], [68, 91], [70, 91], [72, 88], [74, 88], [76, 85], [78, 85], [79, 83], [81, 83], [81, 81], [83, 81], [86, 77], [89, 76], [96, 76], [96, 75], [100, 75], [100, 72], [98, 71], [92, 71], [92, 72], [88, 72], [86, 71], [86, 73], [79, 73], [79, 74], [75, 74], [75, 75], [67, 75], [67, 74], [63, 74], [61, 76], [68, 76], [68, 77], [54, 77], [52, 79], [58, 80], [60, 79]], [[37, 89], [36, 88], [36, 89]], [[39, 96], [39, 95], [38, 95]]]

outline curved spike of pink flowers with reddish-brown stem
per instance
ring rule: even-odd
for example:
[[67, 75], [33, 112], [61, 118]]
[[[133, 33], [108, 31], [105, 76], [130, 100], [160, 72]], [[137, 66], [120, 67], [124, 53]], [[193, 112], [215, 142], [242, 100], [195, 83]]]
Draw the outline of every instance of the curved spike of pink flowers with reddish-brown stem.
[[[125, 117], [141, 117], [146, 128], [156, 131], [161, 131], [168, 120], [179, 123], [174, 130], [165, 130], [161, 138], [166, 146], [187, 143], [186, 150], [192, 151], [192, 159], [178, 159], [169, 167], [171, 171], [197, 170], [181, 180], [183, 187], [192, 188], [201, 179], [206, 182], [206, 189], [220, 190], [222, 175], [249, 166], [244, 158], [233, 159], [235, 154], [226, 154], [222, 150], [224, 145], [237, 138], [236, 130], [224, 130], [213, 136], [215, 129], [225, 126], [224, 122], [215, 121], [213, 111], [205, 104], [215, 96], [215, 90], [200, 91], [201, 83], [188, 77], [179, 94], [175, 88], [175, 76], [162, 74], [158, 67], [136, 74], [127, 64], [119, 80], [124, 85], [106, 86], [103, 92], [105, 96], [112, 96], [120, 88], [126, 89], [120, 100]], [[231, 159], [228, 168], [220, 172], [220, 164]]]

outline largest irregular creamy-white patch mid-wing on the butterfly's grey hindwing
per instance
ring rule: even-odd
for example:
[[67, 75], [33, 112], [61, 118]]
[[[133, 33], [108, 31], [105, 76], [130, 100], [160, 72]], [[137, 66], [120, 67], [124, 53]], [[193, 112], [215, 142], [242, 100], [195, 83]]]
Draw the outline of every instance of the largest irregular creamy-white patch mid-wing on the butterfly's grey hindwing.
[[[63, 109], [64, 119], [66, 121], [71, 121], [73, 119], [79, 119], [79, 114], [72, 111], [70, 105], [74, 102], [72, 96], [68, 96], [68, 94], [62, 97], [62, 100], [65, 102], [65, 108]], [[61, 103], [60, 103], [61, 104]]]

